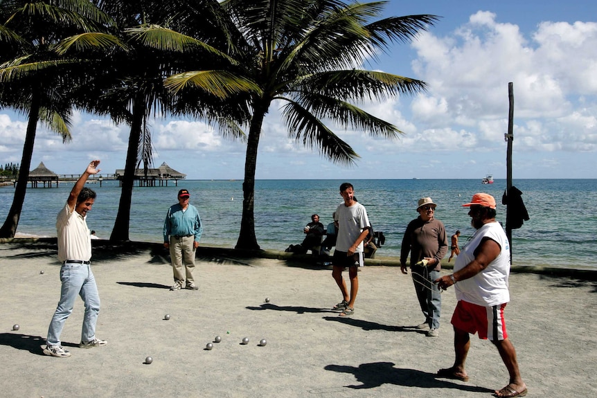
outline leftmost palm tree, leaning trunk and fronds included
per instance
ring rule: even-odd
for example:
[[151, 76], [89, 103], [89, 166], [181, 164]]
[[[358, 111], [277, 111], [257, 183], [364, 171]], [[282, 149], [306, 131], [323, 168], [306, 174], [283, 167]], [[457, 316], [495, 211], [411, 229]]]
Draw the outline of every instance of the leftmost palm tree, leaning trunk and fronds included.
[[0, 237], [14, 237], [25, 201], [37, 123], [70, 141], [71, 94], [84, 75], [78, 60], [55, 46], [64, 37], [98, 30], [109, 19], [87, 0], [7, 0], [0, 3], [0, 105], [28, 114], [12, 206]]

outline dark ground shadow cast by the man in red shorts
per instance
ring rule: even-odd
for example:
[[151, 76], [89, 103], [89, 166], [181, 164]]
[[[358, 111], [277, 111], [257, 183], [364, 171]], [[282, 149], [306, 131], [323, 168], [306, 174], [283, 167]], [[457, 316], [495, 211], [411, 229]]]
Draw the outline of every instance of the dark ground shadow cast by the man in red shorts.
[[418, 388], [454, 388], [470, 392], [494, 392], [489, 388], [467, 386], [452, 381], [435, 379], [435, 374], [414, 369], [394, 368], [391, 362], [362, 363], [358, 368], [348, 365], [326, 365], [325, 370], [340, 373], [352, 373], [361, 384], [345, 386], [347, 388], [375, 388], [382, 384]]

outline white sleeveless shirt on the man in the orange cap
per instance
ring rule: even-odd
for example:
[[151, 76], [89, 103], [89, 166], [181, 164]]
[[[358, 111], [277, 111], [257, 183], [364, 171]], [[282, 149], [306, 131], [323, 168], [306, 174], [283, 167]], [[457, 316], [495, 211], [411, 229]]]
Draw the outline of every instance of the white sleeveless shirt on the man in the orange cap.
[[504, 304], [510, 301], [508, 291], [508, 275], [510, 274], [510, 244], [508, 237], [499, 222], [494, 221], [483, 225], [475, 231], [471, 239], [462, 248], [456, 262], [454, 272], [460, 271], [474, 260], [474, 251], [484, 237], [488, 237], [499, 244], [499, 255], [485, 268], [472, 278], [458, 280], [454, 285], [456, 298], [472, 302], [483, 307]]

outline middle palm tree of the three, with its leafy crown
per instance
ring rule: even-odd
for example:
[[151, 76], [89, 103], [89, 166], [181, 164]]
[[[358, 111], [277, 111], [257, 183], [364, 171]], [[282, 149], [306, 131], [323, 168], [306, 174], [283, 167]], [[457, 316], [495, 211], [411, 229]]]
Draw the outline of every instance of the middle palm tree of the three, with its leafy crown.
[[[208, 62], [210, 58], [205, 57], [206, 54], [222, 56], [206, 44], [217, 40], [222, 42], [221, 38], [209, 33], [212, 21], [216, 20], [211, 18], [212, 10], [219, 11], [220, 7], [215, 0], [93, 2], [114, 18], [117, 28], [113, 33], [127, 44], [127, 51], [107, 54], [100, 68], [109, 73], [94, 86], [96, 92], [91, 96], [92, 101], [87, 102], [90, 111], [109, 115], [116, 123], [130, 125], [121, 199], [110, 235], [111, 241], [127, 241], [135, 171], [141, 162], [145, 169], [152, 163], [149, 118], [153, 114], [206, 116], [213, 107], [202, 102], [206, 96], [173, 95], [164, 87], [163, 80], [190, 65], [197, 67], [199, 59]], [[202, 41], [193, 37], [201, 37]], [[198, 52], [202, 53], [202, 57], [197, 55]], [[227, 131], [231, 137], [242, 133], [233, 127]]]

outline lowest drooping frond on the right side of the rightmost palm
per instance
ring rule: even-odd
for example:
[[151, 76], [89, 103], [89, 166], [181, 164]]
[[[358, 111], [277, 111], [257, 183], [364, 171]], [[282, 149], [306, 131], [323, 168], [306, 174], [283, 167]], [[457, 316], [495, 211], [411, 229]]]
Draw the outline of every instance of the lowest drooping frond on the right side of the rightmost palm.
[[322, 156], [334, 163], [355, 165], [355, 159], [359, 155], [353, 148], [298, 102], [287, 100], [283, 107], [283, 118], [291, 138], [302, 141], [305, 147], [317, 147]]

